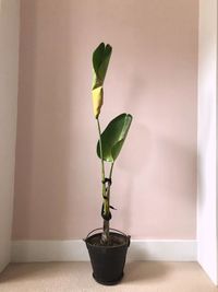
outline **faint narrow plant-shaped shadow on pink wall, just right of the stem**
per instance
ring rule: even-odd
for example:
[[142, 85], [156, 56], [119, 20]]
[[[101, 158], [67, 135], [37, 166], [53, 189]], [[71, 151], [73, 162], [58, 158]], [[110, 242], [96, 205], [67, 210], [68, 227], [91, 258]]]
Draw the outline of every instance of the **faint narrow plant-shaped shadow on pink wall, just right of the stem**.
[[[118, 166], [125, 176], [125, 185], [123, 187], [122, 209], [124, 218], [122, 222], [122, 229], [131, 231], [132, 229], [132, 206], [133, 196], [135, 196], [134, 185], [137, 177], [144, 173], [146, 176], [149, 172], [149, 161], [152, 151], [152, 133], [146, 126], [138, 120], [137, 110], [143, 106], [145, 102], [145, 80], [140, 75], [133, 75], [131, 83], [129, 83], [129, 91], [126, 93], [126, 102], [124, 108], [133, 115], [133, 122], [131, 125], [128, 142], [124, 145], [122, 157], [118, 161]], [[134, 102], [133, 102], [134, 98]], [[142, 152], [143, 150], [143, 152]], [[146, 163], [145, 163], [146, 162]]]

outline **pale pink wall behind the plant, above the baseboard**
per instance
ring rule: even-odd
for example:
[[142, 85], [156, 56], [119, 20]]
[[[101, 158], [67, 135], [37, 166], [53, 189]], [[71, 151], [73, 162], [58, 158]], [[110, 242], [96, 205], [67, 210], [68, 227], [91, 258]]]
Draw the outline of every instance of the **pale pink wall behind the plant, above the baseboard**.
[[195, 238], [197, 0], [22, 0], [13, 238], [101, 225], [90, 56], [113, 55], [101, 121], [134, 121], [114, 167], [112, 225]]

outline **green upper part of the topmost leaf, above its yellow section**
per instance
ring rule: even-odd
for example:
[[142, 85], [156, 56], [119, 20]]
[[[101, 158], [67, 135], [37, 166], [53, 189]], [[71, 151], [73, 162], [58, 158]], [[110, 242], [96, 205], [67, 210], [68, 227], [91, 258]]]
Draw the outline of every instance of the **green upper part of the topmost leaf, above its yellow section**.
[[93, 89], [102, 86], [111, 52], [112, 47], [110, 45], [105, 46], [104, 43], [93, 52]]

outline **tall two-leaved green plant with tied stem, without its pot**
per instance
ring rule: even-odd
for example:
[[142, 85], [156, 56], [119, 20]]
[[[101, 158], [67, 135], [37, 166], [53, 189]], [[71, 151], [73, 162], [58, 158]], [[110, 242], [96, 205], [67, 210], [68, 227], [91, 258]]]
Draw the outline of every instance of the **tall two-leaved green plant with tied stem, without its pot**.
[[[132, 122], [130, 114], [121, 114], [113, 118], [104, 132], [101, 132], [99, 115], [104, 103], [104, 81], [108, 70], [112, 47], [101, 43], [93, 52], [93, 109], [97, 120], [99, 140], [97, 142], [97, 155], [101, 161], [101, 184], [102, 184], [102, 208], [101, 217], [104, 219], [104, 231], [101, 243], [110, 244], [110, 225], [111, 219], [110, 206], [110, 187], [112, 184], [112, 170], [114, 162], [122, 149]], [[106, 176], [105, 163], [110, 163], [109, 175]]]

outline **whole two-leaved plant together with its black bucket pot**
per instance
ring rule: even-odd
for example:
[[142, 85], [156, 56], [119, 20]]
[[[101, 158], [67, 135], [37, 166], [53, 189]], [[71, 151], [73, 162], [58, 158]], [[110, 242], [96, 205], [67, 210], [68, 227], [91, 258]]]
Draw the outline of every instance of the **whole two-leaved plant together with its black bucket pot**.
[[[125, 141], [131, 126], [132, 116], [121, 114], [113, 118], [101, 132], [99, 115], [104, 101], [104, 81], [110, 61], [112, 48], [101, 43], [93, 52], [93, 108], [97, 121], [99, 139], [97, 155], [101, 165], [102, 185], [102, 227], [88, 233], [84, 240], [93, 266], [93, 277], [102, 284], [114, 284], [123, 277], [126, 250], [130, 236], [110, 229], [111, 209], [110, 188], [112, 184], [112, 170], [114, 162]], [[109, 164], [109, 175], [106, 175], [106, 163]], [[97, 233], [96, 233], [97, 232]]]

